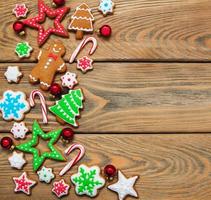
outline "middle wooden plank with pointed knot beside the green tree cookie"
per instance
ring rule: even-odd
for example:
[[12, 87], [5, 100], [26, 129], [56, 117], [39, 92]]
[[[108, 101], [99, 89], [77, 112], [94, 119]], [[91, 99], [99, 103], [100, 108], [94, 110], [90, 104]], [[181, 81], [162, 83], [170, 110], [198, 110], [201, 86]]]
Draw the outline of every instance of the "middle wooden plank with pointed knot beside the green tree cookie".
[[[27, 77], [32, 64], [20, 64], [24, 78], [18, 85], [7, 84], [0, 65], [0, 95], [7, 89], [28, 95]], [[79, 120], [81, 133], [157, 133], [211, 131], [211, 64], [176, 63], [96, 63], [95, 70], [83, 75], [69, 65], [79, 77], [86, 101]], [[57, 76], [57, 82], [60, 83]], [[55, 103], [45, 94], [48, 105]], [[41, 121], [40, 106], [25, 119], [31, 127]], [[49, 115], [50, 127], [58, 126]], [[7, 126], [5, 126], [7, 124]], [[0, 131], [8, 132], [12, 122], [0, 121]]]

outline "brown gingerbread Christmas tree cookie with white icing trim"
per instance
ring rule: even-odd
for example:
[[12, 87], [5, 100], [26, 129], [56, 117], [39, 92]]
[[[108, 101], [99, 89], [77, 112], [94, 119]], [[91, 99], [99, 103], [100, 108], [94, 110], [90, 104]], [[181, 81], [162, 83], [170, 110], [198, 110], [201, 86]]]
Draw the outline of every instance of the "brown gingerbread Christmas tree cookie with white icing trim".
[[83, 32], [93, 32], [94, 17], [87, 4], [83, 3], [78, 6], [71, 19], [69, 29], [76, 31], [76, 39], [81, 40], [84, 35]]

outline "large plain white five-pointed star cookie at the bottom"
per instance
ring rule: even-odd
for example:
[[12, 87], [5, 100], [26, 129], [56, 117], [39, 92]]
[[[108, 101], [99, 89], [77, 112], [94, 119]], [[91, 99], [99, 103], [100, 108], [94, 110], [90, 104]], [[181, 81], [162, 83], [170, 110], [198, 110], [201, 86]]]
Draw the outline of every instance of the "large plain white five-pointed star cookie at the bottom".
[[116, 192], [119, 200], [123, 200], [127, 196], [138, 197], [137, 192], [133, 188], [137, 178], [138, 176], [126, 178], [121, 171], [118, 171], [118, 181], [113, 185], [109, 185], [108, 189]]

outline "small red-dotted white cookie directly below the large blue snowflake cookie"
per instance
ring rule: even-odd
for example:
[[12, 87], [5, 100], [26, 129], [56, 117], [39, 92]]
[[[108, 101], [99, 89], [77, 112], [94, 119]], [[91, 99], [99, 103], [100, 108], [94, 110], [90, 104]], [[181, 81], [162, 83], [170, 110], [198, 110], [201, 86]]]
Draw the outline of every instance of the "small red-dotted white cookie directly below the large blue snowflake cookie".
[[21, 139], [26, 137], [26, 133], [28, 131], [29, 129], [25, 126], [24, 122], [20, 123], [15, 122], [11, 129], [11, 133], [13, 134], [14, 138], [21, 138]]

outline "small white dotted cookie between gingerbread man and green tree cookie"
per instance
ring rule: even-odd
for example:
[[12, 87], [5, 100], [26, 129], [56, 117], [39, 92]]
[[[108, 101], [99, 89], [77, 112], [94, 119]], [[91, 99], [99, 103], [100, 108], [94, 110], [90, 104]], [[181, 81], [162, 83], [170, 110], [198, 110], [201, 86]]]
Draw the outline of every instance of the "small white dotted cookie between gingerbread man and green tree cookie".
[[62, 86], [73, 89], [75, 85], [78, 84], [77, 75], [75, 73], [66, 72], [64, 76], [61, 77]]

